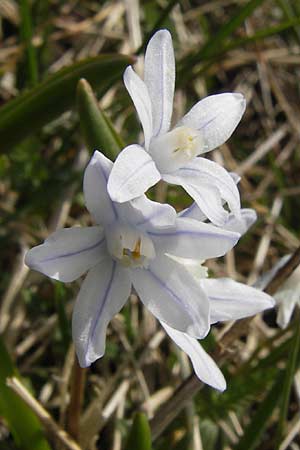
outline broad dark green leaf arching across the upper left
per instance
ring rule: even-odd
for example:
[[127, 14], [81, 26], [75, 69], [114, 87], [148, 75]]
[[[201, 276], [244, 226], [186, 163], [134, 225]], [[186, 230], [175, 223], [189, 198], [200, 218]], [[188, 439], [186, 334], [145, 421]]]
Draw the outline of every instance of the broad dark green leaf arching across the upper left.
[[132, 60], [123, 55], [102, 55], [61, 69], [43, 83], [8, 102], [0, 109], [1, 151], [38, 131], [72, 108], [76, 86], [87, 78], [103, 94]]

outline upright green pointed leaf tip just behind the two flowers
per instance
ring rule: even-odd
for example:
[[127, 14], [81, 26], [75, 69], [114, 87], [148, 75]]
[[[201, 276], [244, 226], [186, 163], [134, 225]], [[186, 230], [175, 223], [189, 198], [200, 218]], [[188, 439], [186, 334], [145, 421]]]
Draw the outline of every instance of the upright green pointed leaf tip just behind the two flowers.
[[77, 86], [77, 106], [81, 131], [88, 149], [91, 152], [100, 150], [108, 158], [115, 159], [125, 145], [100, 110], [91, 86], [84, 79]]

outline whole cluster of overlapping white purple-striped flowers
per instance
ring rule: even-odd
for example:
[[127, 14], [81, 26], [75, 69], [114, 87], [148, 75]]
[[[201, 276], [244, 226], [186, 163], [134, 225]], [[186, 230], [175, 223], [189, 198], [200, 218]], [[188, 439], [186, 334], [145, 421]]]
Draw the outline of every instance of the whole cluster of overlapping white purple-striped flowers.
[[[197, 339], [213, 323], [274, 304], [252, 287], [207, 278], [202, 266], [206, 259], [225, 255], [256, 219], [253, 210], [240, 207], [237, 177], [199, 157], [230, 137], [245, 100], [230, 93], [207, 97], [170, 131], [175, 63], [166, 30], [148, 44], [144, 81], [128, 67], [124, 82], [143, 126], [144, 144], [126, 147], [114, 164], [95, 151], [83, 190], [96, 225], [56, 231], [27, 253], [26, 264], [63, 282], [87, 272], [72, 319], [82, 367], [103, 356], [108, 323], [133, 288], [189, 355], [196, 375], [222, 391], [224, 377]], [[146, 190], [160, 179], [183, 186], [194, 203], [177, 214], [172, 206], [149, 200]]]

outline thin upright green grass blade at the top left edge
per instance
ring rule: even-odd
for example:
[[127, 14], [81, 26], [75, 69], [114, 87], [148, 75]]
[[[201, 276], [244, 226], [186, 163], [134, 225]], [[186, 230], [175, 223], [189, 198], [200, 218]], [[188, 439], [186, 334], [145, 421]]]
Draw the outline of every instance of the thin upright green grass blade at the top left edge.
[[32, 21], [28, 0], [20, 0], [21, 38], [26, 49], [26, 63], [29, 85], [35, 86], [38, 82], [38, 63], [36, 49], [32, 44]]

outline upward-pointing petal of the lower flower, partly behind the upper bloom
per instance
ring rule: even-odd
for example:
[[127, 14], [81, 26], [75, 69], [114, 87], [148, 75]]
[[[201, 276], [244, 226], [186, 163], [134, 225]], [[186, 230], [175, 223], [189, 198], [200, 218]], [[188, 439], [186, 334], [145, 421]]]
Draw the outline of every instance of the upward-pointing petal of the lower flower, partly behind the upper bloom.
[[84, 172], [85, 204], [96, 223], [107, 225], [117, 219], [115, 205], [107, 192], [107, 180], [113, 163], [97, 150]]

